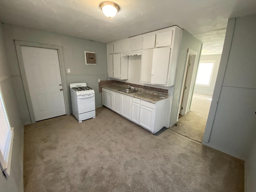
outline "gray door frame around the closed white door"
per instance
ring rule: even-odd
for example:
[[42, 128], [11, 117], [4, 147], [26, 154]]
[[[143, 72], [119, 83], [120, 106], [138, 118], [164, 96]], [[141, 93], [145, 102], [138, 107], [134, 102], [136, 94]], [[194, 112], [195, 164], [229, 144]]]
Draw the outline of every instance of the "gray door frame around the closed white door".
[[28, 81], [26, 78], [26, 73], [25, 73], [25, 68], [24, 68], [24, 63], [23, 63], [23, 58], [22, 58], [22, 52], [21, 52], [21, 46], [54, 49], [54, 50], [58, 51], [59, 65], [60, 65], [60, 76], [61, 76], [62, 85], [63, 85], [62, 88], [63, 88], [65, 108], [66, 108], [66, 115], [70, 115], [70, 107], [69, 107], [69, 100], [68, 100], [68, 86], [67, 86], [67, 81], [66, 81], [62, 46], [41, 44], [41, 43], [34, 43], [34, 42], [26, 42], [26, 41], [19, 41], [19, 40], [14, 40], [14, 44], [16, 47], [18, 64], [20, 67], [20, 74], [21, 74], [21, 78], [22, 78], [22, 84], [23, 84], [23, 88], [24, 88], [24, 92], [25, 92], [25, 96], [26, 96], [26, 101], [27, 101], [27, 105], [28, 105], [28, 111], [30, 114], [31, 122], [35, 123], [36, 118], [34, 115], [34, 110], [32, 107], [32, 100], [30, 97], [29, 89], [28, 89]]

